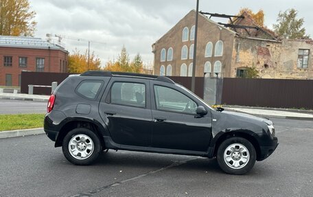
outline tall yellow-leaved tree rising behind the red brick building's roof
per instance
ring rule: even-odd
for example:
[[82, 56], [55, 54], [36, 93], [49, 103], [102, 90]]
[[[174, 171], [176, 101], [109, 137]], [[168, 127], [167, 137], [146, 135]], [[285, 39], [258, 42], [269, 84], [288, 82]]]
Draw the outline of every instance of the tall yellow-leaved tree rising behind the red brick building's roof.
[[0, 35], [33, 36], [36, 12], [30, 10], [28, 0], [0, 1]]

